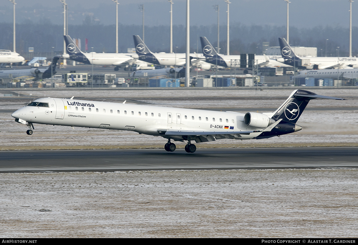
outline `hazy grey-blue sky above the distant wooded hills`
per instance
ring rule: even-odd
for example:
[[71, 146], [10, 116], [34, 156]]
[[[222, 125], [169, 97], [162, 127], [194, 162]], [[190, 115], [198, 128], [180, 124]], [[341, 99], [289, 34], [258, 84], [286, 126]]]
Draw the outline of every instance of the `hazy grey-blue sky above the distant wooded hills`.
[[[349, 27], [348, 0], [290, 0], [290, 26]], [[69, 24], [82, 24], [86, 15], [93, 15], [101, 24], [115, 23], [115, 3], [111, 0], [67, 0]], [[173, 0], [173, 24], [185, 25], [186, 0]], [[54, 24], [63, 23], [63, 5], [58, 0], [16, 0], [16, 22], [38, 22], [49, 18]], [[119, 0], [119, 22], [142, 24], [138, 6], [144, 4], [145, 25], [169, 25], [170, 4], [167, 0]], [[213, 5], [220, 7], [220, 23], [226, 25], [227, 4], [224, 0], [191, 0], [190, 25], [217, 24]], [[353, 26], [357, 26], [354, 13], [358, 2], [353, 3]], [[231, 0], [230, 22], [244, 25], [286, 25], [286, 2], [284, 0]], [[0, 22], [13, 21], [13, 4], [0, 1]]]

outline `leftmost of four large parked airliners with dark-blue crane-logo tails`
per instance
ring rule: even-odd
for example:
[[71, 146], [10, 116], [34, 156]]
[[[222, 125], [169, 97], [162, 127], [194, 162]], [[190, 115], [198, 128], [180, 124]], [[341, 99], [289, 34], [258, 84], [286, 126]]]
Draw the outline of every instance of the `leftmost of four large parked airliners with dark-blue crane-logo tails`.
[[84, 64], [93, 64], [93, 65], [113, 65], [115, 71], [118, 71], [119, 68], [124, 69], [125, 71], [130, 70], [132, 64], [140, 64], [140, 66], [149, 66], [151, 65], [148, 62], [138, 61], [131, 57], [131, 53], [83, 53], [78, 46], [74, 43], [72, 38], [68, 35], [64, 36], [66, 42], [67, 54], [63, 54], [62, 57]]

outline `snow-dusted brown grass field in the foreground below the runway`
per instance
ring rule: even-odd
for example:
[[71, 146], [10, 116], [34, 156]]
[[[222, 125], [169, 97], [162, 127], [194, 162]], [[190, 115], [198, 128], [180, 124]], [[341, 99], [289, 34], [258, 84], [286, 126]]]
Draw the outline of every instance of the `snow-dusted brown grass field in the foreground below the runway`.
[[357, 238], [358, 169], [0, 174], [1, 238]]

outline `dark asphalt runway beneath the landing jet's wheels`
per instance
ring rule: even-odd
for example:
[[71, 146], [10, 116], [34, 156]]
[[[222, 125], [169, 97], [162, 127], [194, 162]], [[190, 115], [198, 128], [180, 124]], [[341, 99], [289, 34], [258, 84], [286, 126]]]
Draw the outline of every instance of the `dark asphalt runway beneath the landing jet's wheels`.
[[1, 151], [0, 172], [358, 167], [358, 147]]

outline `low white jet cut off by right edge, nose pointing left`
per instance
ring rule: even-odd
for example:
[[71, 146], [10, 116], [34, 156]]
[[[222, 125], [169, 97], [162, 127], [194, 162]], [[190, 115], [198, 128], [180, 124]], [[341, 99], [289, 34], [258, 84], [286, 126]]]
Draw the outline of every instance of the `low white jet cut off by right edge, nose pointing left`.
[[318, 79], [353, 79], [358, 78], [358, 69], [323, 69], [323, 70], [302, 70], [297, 72], [292, 78], [313, 77]]

